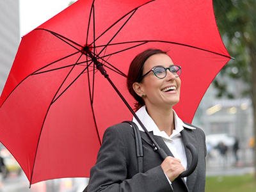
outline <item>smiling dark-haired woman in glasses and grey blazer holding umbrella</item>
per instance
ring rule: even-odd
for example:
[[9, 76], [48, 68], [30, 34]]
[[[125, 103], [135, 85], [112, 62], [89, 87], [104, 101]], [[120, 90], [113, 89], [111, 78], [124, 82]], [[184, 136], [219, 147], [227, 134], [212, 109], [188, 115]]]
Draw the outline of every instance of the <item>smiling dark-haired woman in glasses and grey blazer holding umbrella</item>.
[[[143, 141], [144, 172], [138, 173], [133, 129], [124, 123], [109, 127], [91, 170], [88, 191], [204, 191], [204, 132], [184, 124], [172, 109], [180, 99], [180, 72], [170, 56], [159, 49], [148, 49], [134, 58], [127, 87], [137, 101], [136, 115], [168, 157], [163, 161], [152, 150], [152, 141], [133, 118]], [[198, 150], [198, 165], [188, 178], [180, 179], [191, 162], [186, 143]]]

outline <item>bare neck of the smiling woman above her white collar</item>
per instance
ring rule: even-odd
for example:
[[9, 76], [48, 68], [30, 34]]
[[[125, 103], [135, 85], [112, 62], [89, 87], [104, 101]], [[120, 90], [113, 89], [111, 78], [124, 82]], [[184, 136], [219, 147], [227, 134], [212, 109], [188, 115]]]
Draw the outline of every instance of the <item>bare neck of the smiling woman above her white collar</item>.
[[159, 108], [148, 108], [148, 115], [154, 120], [160, 131], [166, 132], [168, 136], [172, 135], [174, 125], [174, 115], [172, 108], [169, 109], [159, 109]]

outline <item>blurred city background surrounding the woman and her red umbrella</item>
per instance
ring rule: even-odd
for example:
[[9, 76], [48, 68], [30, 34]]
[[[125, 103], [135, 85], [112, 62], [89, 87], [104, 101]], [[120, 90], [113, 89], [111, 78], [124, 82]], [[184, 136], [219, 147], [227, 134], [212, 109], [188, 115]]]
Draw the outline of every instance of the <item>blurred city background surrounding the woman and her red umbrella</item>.
[[[74, 1], [0, 0], [0, 94], [22, 35]], [[200, 103], [193, 124], [207, 141], [205, 191], [256, 191], [256, 3], [213, 0], [216, 22], [231, 60], [216, 76]], [[0, 143], [1, 144], [1, 143]], [[1, 191], [83, 191], [86, 178], [29, 182], [12, 155], [0, 146]]]

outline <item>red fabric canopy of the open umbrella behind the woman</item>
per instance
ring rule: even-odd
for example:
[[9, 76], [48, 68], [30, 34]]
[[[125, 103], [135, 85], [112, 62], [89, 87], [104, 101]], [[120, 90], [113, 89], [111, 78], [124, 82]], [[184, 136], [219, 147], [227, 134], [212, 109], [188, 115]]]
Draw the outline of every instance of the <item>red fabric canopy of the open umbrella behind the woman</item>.
[[182, 67], [175, 111], [191, 122], [230, 60], [211, 0], [79, 0], [22, 38], [0, 98], [0, 141], [31, 184], [89, 177], [104, 130], [131, 120], [92, 56], [132, 106], [129, 63], [154, 47]]

